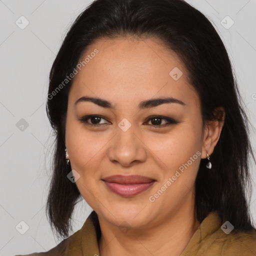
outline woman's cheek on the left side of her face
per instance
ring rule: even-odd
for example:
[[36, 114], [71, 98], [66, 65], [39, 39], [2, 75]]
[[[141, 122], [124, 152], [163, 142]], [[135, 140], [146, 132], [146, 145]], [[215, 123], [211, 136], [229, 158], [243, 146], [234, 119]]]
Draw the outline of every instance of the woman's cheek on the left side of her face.
[[99, 198], [98, 183], [100, 179], [100, 152], [106, 141], [99, 139], [98, 135], [85, 132], [82, 125], [69, 124], [66, 128], [66, 144], [71, 168], [75, 169], [80, 177], [76, 186], [84, 200], [93, 208], [95, 197]]

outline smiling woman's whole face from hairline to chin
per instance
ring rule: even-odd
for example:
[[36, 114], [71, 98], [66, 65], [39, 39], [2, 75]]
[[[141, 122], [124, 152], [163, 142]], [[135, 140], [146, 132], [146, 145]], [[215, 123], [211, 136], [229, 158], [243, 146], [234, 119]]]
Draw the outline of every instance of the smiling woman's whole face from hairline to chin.
[[[98, 40], [86, 57], [69, 92], [65, 133], [82, 197], [117, 226], [153, 226], [187, 214], [205, 157], [200, 101], [182, 62], [151, 39]], [[107, 179], [112, 175], [146, 178]]]

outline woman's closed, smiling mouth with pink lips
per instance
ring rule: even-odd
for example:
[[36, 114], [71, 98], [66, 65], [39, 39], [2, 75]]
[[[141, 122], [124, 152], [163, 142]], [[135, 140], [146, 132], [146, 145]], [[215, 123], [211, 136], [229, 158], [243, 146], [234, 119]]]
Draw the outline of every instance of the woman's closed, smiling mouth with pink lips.
[[140, 175], [112, 175], [102, 180], [110, 191], [125, 197], [142, 193], [156, 181]]

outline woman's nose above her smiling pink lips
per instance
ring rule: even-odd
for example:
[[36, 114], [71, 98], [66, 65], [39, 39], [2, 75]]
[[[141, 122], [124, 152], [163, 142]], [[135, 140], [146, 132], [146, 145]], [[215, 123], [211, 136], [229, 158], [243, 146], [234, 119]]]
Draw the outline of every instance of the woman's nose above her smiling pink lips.
[[116, 132], [107, 150], [109, 160], [124, 167], [136, 162], [144, 162], [147, 157], [147, 147], [132, 126], [126, 131], [117, 128]]

